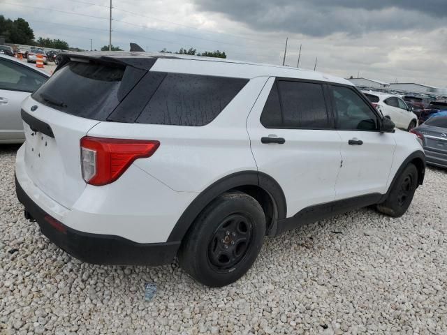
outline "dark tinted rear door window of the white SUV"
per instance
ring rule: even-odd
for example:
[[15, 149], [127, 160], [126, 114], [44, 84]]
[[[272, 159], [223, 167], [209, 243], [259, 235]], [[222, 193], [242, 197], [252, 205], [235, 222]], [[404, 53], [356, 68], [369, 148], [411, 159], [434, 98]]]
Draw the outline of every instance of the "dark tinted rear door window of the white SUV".
[[266, 128], [328, 128], [323, 86], [307, 82], [277, 82], [261, 114], [261, 123]]

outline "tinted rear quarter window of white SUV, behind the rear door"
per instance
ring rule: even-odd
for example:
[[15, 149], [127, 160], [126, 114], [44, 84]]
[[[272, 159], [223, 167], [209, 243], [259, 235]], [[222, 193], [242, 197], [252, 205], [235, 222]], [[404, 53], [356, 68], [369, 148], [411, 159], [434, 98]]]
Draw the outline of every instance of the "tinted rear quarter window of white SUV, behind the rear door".
[[136, 122], [175, 126], [209, 124], [248, 80], [168, 73]]

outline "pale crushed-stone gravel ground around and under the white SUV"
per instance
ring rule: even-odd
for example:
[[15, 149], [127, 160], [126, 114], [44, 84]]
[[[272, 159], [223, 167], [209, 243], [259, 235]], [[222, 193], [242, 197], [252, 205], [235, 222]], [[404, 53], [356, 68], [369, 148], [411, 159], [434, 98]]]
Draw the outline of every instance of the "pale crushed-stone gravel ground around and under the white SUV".
[[210, 289], [49, 243], [15, 198], [16, 149], [0, 148], [1, 334], [447, 334], [447, 170], [427, 169], [402, 218], [361, 209], [265, 239], [246, 276]]

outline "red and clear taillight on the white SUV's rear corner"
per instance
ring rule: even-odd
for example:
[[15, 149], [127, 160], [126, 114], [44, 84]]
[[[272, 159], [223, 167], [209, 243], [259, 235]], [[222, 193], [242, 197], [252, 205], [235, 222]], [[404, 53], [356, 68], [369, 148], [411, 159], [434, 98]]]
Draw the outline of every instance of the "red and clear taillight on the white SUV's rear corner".
[[117, 180], [135, 159], [152, 156], [159, 146], [159, 141], [82, 137], [82, 178], [87, 184], [94, 186], [110, 184]]

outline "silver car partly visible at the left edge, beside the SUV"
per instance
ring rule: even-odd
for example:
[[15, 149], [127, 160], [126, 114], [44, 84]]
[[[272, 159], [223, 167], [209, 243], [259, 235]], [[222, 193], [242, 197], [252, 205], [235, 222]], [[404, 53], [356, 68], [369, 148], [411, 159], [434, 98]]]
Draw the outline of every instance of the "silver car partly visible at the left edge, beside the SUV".
[[0, 144], [24, 142], [20, 105], [48, 77], [38, 68], [0, 54]]

